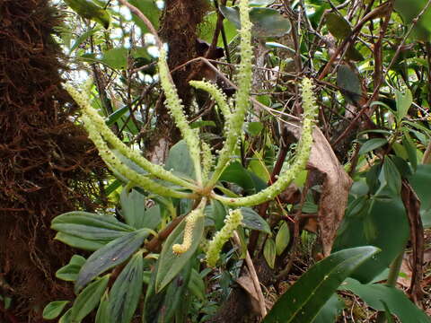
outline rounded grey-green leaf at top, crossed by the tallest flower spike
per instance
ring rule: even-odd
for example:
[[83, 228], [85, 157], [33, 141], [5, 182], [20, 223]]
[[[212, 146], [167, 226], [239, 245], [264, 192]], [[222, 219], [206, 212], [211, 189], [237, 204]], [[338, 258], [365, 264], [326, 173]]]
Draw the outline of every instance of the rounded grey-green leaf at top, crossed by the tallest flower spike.
[[[241, 29], [240, 13], [237, 7], [220, 5], [219, 8], [224, 18], [232, 22], [237, 30]], [[250, 20], [253, 24], [251, 32], [256, 37], [280, 37], [286, 35], [292, 28], [286, 17], [270, 8], [251, 8]]]

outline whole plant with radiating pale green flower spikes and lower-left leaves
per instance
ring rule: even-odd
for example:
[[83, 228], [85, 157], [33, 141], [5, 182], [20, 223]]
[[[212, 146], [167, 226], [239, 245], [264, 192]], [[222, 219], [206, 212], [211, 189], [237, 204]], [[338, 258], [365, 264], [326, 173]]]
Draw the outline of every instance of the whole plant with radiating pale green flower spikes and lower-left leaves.
[[[181, 222], [174, 219], [167, 227], [170, 234], [163, 243], [163, 249], [158, 256], [157, 264], [151, 275], [145, 297], [145, 318], [151, 307], [154, 307], [152, 295], [169, 295], [172, 291], [170, 284], [179, 275], [190, 276], [192, 258], [204, 240], [204, 228], [207, 205], [219, 203], [233, 207], [224, 220], [224, 226], [216, 232], [212, 240], [207, 241], [205, 258], [208, 266], [216, 266], [220, 250], [224, 243], [233, 236], [233, 232], [242, 225], [242, 206], [259, 205], [274, 199], [295, 179], [295, 176], [304, 170], [311, 152], [312, 127], [317, 114], [316, 104], [312, 94], [312, 81], [303, 78], [303, 129], [302, 136], [297, 144], [295, 159], [277, 181], [268, 188], [261, 189], [250, 196], [224, 196], [216, 190], [219, 179], [229, 163], [233, 161], [232, 155], [242, 138], [242, 126], [250, 106], [251, 98], [251, 22], [249, 18], [249, 5], [247, 0], [239, 4], [241, 18], [241, 64], [239, 65], [236, 83], [238, 90], [234, 100], [228, 101], [224, 93], [213, 83], [206, 81], [190, 82], [192, 86], [207, 91], [216, 100], [217, 105], [224, 114], [225, 142], [224, 147], [213, 156], [209, 146], [199, 140], [198, 129], [189, 126], [184, 113], [181, 100], [172, 82], [172, 77], [166, 61], [166, 50], [159, 44], [160, 57], [158, 62], [160, 82], [166, 97], [166, 106], [172, 114], [176, 126], [184, 142], [187, 144], [189, 158], [193, 165], [192, 177], [185, 177], [165, 169], [161, 165], [149, 162], [140, 153], [124, 144], [112, 133], [110, 127], [92, 108], [90, 99], [83, 92], [78, 92], [72, 85], [66, 84], [66, 90], [82, 110], [82, 120], [92, 142], [97, 147], [101, 158], [119, 178], [127, 182], [126, 191], [139, 188], [146, 194], [152, 194], [154, 199], [164, 201], [181, 200], [191, 201], [194, 208], [185, 215]], [[137, 165], [144, 171], [136, 170]], [[215, 202], [217, 201], [217, 202]], [[168, 205], [172, 205], [169, 202]], [[124, 208], [125, 205], [123, 205]], [[144, 205], [142, 205], [144, 208]], [[80, 321], [97, 304], [100, 303], [98, 321], [129, 322], [137, 308], [143, 279], [144, 257], [154, 249], [145, 244], [145, 239], [153, 234], [154, 239], [166, 238], [160, 232], [155, 232], [156, 226], [139, 227], [135, 223], [120, 223], [115, 217], [99, 214], [73, 212], [57, 216], [53, 220], [52, 228], [59, 231], [58, 240], [63, 240], [74, 247], [95, 250], [86, 260], [76, 258], [59, 271], [59, 276], [75, 282], [75, 292], [78, 296], [74, 306], [66, 312], [64, 318], [72, 322]], [[173, 231], [172, 231], [172, 228]], [[89, 243], [90, 241], [90, 243]], [[78, 261], [79, 260], [79, 261]], [[126, 264], [126, 265], [125, 265]], [[113, 269], [113, 270], [111, 270]], [[99, 277], [111, 270], [110, 274]], [[70, 275], [66, 275], [69, 273]], [[110, 290], [115, 289], [115, 295], [109, 292], [109, 281], [114, 281]], [[119, 283], [122, 282], [122, 283]], [[135, 285], [134, 285], [135, 284]], [[180, 289], [179, 289], [180, 290]], [[162, 297], [162, 296], [161, 296]], [[164, 297], [164, 296], [163, 296]], [[162, 297], [162, 298], [163, 298]], [[168, 297], [168, 296], [166, 296]], [[61, 303], [62, 308], [65, 303]], [[52, 319], [52, 311], [56, 309], [47, 307], [46, 318]], [[61, 310], [60, 310], [61, 311]], [[58, 314], [58, 313], [57, 313]], [[165, 313], [165, 321], [170, 321]], [[169, 314], [169, 315], [168, 315]], [[110, 318], [103, 320], [103, 318]], [[171, 317], [172, 318], [172, 317]], [[66, 320], [66, 319], [65, 319]]]

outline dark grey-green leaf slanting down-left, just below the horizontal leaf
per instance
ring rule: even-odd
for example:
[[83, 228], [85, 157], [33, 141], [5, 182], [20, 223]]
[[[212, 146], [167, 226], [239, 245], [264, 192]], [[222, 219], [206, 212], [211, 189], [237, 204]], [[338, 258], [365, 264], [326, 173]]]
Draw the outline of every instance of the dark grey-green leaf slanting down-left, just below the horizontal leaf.
[[146, 229], [130, 232], [94, 252], [79, 271], [75, 282], [75, 291], [78, 292], [98, 275], [126, 261], [141, 247], [148, 234], [149, 231]]

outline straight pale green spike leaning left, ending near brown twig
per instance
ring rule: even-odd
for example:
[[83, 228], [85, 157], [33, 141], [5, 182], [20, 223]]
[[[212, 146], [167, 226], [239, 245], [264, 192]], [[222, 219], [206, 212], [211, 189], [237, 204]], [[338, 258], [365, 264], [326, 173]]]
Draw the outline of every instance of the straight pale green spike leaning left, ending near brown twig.
[[189, 147], [190, 157], [195, 166], [196, 178], [198, 182], [202, 182], [198, 134], [189, 127], [187, 118], [184, 115], [180, 97], [178, 96], [175, 85], [172, 82], [171, 74], [169, 73], [169, 67], [166, 62], [166, 51], [164, 48], [160, 48], [158, 66], [160, 83], [162, 84], [164, 95], [166, 96], [166, 105], [171, 111], [175, 124], [180, 129], [181, 135]]

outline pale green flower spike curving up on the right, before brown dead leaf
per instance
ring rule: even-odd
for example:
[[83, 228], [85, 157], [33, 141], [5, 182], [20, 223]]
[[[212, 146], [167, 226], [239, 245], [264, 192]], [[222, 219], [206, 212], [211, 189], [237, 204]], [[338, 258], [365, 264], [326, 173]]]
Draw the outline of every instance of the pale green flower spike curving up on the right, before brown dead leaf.
[[214, 198], [225, 205], [246, 206], [259, 205], [274, 199], [295, 179], [297, 174], [305, 169], [312, 150], [312, 127], [317, 116], [317, 105], [312, 93], [312, 81], [308, 78], [303, 79], [303, 130], [301, 139], [296, 150], [295, 162], [291, 167], [279, 176], [277, 181], [270, 187], [261, 190], [252, 196], [229, 198], [213, 195]]

